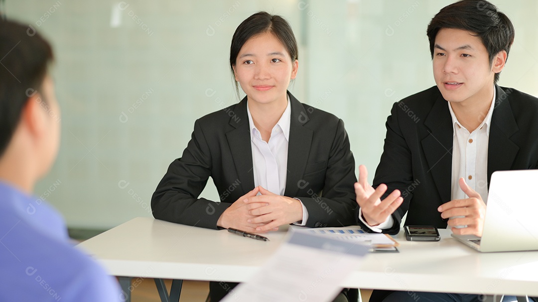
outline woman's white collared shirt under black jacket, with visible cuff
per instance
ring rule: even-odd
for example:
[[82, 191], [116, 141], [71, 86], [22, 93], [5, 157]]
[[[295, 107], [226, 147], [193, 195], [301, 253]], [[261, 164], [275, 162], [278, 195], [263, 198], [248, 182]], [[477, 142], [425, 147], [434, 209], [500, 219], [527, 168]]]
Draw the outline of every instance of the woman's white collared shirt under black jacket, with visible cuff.
[[[274, 125], [268, 142], [261, 139], [261, 133], [254, 126], [248, 103], [246, 108], [250, 125], [254, 186], [261, 185], [272, 193], [284, 196], [288, 171], [289, 126], [292, 114], [289, 97], [286, 110], [282, 113], [278, 123]], [[301, 205], [303, 208], [302, 222], [294, 224], [304, 226], [308, 220], [308, 211], [302, 202]]]

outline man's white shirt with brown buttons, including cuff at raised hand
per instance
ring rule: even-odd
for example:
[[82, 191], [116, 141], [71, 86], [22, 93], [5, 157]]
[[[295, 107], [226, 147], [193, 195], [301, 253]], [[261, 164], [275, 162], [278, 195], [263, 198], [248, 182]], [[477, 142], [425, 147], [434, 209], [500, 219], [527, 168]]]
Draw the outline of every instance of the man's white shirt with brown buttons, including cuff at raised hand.
[[[497, 91], [493, 87], [493, 99], [490, 110], [487, 112], [482, 124], [475, 131], [469, 133], [459, 123], [452, 105], [448, 103], [452, 127], [454, 127], [454, 140], [452, 141], [452, 181], [450, 200], [465, 199], [467, 196], [459, 187], [459, 178], [465, 178], [465, 182], [477, 191], [484, 203], [487, 203], [487, 150], [489, 146], [491, 116], [495, 107]], [[363, 218], [362, 209], [359, 208], [359, 219], [372, 231], [380, 233], [383, 229], [389, 229], [394, 225], [394, 219], [390, 215], [387, 220], [377, 226], [370, 226]], [[465, 226], [461, 226], [465, 227]]]

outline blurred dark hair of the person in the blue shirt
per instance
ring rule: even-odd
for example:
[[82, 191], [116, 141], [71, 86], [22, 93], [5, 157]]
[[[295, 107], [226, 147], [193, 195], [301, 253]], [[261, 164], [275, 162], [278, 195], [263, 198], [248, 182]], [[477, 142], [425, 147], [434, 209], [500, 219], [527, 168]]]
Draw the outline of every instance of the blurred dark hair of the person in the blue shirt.
[[35, 91], [40, 90], [53, 55], [51, 46], [32, 26], [0, 19], [0, 58], [3, 65], [0, 66], [2, 156], [19, 123], [24, 105]]

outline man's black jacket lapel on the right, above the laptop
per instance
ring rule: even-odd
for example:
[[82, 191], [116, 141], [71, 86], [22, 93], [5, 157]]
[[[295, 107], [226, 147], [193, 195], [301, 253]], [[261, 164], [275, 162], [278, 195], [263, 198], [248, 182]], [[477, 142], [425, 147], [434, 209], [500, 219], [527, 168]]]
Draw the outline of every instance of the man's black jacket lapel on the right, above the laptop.
[[490, 142], [487, 151], [487, 186], [489, 188], [491, 174], [494, 171], [510, 170], [519, 147], [510, 140], [519, 131], [509, 102], [508, 94], [495, 85], [497, 97], [491, 116]]

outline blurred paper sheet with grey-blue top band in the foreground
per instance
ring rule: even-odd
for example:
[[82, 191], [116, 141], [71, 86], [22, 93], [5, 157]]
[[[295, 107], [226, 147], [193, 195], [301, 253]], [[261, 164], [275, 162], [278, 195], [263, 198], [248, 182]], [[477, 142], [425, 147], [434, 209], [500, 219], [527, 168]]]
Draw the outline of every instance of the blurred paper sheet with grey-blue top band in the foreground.
[[222, 301], [332, 301], [366, 253], [367, 247], [357, 242], [293, 232], [251, 281]]

